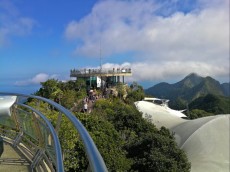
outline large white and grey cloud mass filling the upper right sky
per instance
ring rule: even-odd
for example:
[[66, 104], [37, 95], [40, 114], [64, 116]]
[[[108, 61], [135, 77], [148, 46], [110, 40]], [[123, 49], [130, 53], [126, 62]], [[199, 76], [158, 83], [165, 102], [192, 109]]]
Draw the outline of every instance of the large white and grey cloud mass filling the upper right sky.
[[[148, 0], [100, 1], [89, 15], [70, 22], [65, 35], [82, 41], [78, 55], [98, 57], [100, 41], [106, 57], [135, 52], [130, 65], [136, 80], [191, 72], [228, 77], [229, 1], [198, 0], [187, 13], [165, 6]], [[169, 15], [158, 14], [167, 9]]]

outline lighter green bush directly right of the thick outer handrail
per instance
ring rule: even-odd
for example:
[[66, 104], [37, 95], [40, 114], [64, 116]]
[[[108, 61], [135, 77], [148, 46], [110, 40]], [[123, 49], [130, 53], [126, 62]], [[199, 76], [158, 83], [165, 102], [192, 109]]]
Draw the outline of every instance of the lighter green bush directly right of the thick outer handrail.
[[109, 171], [130, 169], [132, 161], [126, 157], [124, 141], [110, 122], [95, 115], [79, 113], [77, 117], [93, 138]]

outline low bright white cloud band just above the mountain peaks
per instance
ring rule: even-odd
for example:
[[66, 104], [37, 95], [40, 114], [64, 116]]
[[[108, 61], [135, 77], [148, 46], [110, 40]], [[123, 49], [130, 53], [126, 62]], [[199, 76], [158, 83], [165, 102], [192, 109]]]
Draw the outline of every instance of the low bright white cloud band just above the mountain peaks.
[[208, 63], [194, 61], [167, 61], [161, 63], [136, 62], [123, 64], [106, 63], [102, 68], [131, 68], [132, 77], [126, 77], [127, 82], [132, 81], [164, 81], [178, 80], [196, 71], [201, 76], [214, 78], [228, 75], [228, 70], [222, 66], [210, 65]]

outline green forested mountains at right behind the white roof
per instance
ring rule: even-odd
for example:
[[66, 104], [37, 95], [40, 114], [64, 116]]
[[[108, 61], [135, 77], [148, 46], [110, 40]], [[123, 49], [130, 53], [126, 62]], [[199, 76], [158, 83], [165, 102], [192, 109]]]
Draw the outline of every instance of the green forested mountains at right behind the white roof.
[[172, 109], [187, 109], [185, 112], [190, 119], [210, 115], [230, 114], [230, 84], [220, 84], [211, 77], [201, 77], [190, 74], [175, 83], [160, 83], [146, 92], [158, 98], [169, 99]]

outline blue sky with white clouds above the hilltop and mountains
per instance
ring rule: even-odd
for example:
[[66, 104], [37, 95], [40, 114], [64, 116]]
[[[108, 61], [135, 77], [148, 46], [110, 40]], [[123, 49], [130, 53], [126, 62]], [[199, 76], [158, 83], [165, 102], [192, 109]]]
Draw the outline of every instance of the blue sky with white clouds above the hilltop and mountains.
[[229, 82], [229, 0], [0, 0], [0, 92], [100, 64], [144, 88], [190, 73]]

